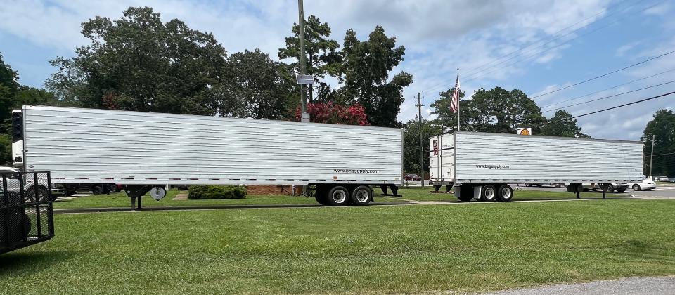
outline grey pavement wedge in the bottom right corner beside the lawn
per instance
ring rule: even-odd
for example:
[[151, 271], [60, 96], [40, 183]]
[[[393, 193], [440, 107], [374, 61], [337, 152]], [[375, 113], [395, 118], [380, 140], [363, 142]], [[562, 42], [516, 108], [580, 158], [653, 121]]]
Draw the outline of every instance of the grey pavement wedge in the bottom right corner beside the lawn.
[[675, 277], [631, 277], [622, 280], [502, 291], [499, 295], [529, 294], [674, 294]]

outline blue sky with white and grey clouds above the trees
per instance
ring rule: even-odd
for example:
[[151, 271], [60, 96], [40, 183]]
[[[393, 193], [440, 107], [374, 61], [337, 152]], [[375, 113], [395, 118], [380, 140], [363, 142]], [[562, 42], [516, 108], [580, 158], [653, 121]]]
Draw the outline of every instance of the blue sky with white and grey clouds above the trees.
[[[118, 19], [129, 6], [150, 6], [165, 22], [179, 18], [213, 32], [229, 53], [260, 48], [276, 60], [298, 20], [293, 0], [0, 0], [0, 53], [21, 84], [42, 87], [56, 72], [49, 60], [72, 57], [87, 44], [82, 22]], [[675, 53], [655, 58], [675, 50], [675, 1], [312, 0], [304, 1], [304, 13], [328, 22], [340, 44], [347, 29], [363, 40], [382, 25], [405, 46], [390, 75], [414, 77], [404, 90], [402, 122], [416, 118], [417, 93], [423, 117], [433, 119], [429, 105], [454, 86], [458, 68], [467, 96], [495, 86], [520, 89], [546, 117], [556, 107], [579, 115], [675, 91]], [[583, 104], [567, 107], [575, 103]], [[578, 124], [593, 138], [639, 140], [662, 108], [675, 110], [675, 95], [579, 117]]]

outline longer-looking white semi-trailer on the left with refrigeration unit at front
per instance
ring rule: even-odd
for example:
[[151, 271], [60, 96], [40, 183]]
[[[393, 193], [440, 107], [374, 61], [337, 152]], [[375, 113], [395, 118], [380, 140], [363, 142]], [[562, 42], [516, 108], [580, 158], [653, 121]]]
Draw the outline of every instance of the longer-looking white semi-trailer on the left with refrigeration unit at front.
[[[401, 129], [24, 106], [13, 112], [13, 160], [56, 184], [116, 183], [131, 197], [165, 185], [304, 185], [321, 204], [396, 195]], [[140, 199], [139, 199], [140, 206]]]

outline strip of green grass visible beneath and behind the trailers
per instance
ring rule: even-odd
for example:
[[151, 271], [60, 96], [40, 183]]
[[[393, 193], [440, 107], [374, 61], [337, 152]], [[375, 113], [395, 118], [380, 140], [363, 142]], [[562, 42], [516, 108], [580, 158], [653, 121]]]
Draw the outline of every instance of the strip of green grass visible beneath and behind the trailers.
[[[425, 188], [401, 188], [398, 193], [403, 197], [382, 197], [382, 191], [374, 188], [375, 202], [403, 202], [406, 199], [413, 201], [442, 201], [458, 202], [455, 195], [432, 194], [430, 187]], [[169, 190], [167, 196], [160, 201], [155, 201], [149, 196], [143, 197], [142, 205], [146, 208], [171, 207], [171, 206], [238, 206], [238, 205], [293, 205], [293, 204], [317, 204], [314, 197], [291, 196], [291, 195], [247, 195], [244, 199], [186, 199], [174, 200], [179, 191]], [[610, 197], [622, 196], [622, 194], [608, 194]], [[560, 190], [560, 192], [546, 192], [536, 190], [515, 190], [513, 200], [524, 199], [574, 199], [576, 195]], [[581, 197], [602, 197], [597, 192], [584, 192]], [[124, 192], [110, 195], [91, 195], [75, 199], [58, 200], [54, 203], [55, 209], [79, 209], [79, 208], [117, 208], [130, 207], [131, 199]]]

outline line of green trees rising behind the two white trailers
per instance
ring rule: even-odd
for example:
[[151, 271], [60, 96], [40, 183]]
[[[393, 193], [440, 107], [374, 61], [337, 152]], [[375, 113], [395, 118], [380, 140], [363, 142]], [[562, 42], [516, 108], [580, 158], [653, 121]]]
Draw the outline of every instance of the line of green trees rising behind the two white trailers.
[[[72, 58], [50, 61], [56, 72], [46, 89], [20, 85], [18, 73], [0, 55], [0, 157], [11, 162], [8, 119], [25, 104], [299, 120], [299, 26], [290, 32], [278, 49], [282, 61], [258, 48], [229, 54], [210, 32], [178, 19], [163, 22], [149, 7], [130, 7], [117, 20], [96, 16], [82, 22], [87, 44], [75, 48]], [[305, 20], [307, 73], [316, 82], [306, 89], [311, 121], [404, 128], [404, 169], [420, 171], [418, 120], [397, 119], [403, 89], [413, 82], [407, 72], [392, 72], [404, 60], [404, 46], [381, 26], [363, 40], [353, 29], [341, 41], [331, 34], [315, 15]], [[322, 81], [326, 77], [338, 85]], [[430, 105], [436, 118], [423, 120], [423, 138], [454, 130], [452, 91], [440, 92]], [[518, 89], [478, 89], [461, 100], [460, 119], [463, 131], [515, 133], [531, 127], [534, 134], [589, 137], [570, 113], [560, 110], [546, 119]], [[647, 134], [645, 129], [644, 141], [650, 140]]]

